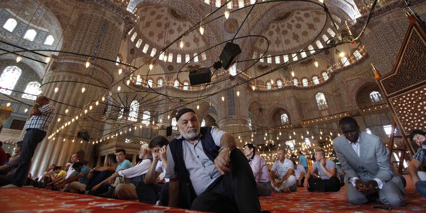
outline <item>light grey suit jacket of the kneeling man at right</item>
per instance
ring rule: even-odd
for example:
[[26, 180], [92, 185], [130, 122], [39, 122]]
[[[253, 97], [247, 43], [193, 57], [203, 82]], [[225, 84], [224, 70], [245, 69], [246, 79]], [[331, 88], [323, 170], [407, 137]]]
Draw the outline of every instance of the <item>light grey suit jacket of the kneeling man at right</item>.
[[405, 193], [404, 185], [398, 175], [390, 167], [390, 154], [382, 140], [366, 132], [360, 132], [360, 156], [358, 157], [349, 141], [341, 135], [333, 140], [334, 150], [345, 173], [345, 183], [351, 177], [358, 177], [362, 181], [374, 178], [393, 181]]

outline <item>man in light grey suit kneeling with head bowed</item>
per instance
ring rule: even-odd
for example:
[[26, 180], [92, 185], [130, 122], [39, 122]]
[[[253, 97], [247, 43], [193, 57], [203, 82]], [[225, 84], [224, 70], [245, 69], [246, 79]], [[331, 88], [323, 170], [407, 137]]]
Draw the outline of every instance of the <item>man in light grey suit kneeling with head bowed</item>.
[[376, 200], [403, 205], [404, 184], [390, 167], [389, 150], [382, 140], [361, 132], [352, 117], [340, 119], [339, 128], [342, 135], [333, 140], [333, 146], [345, 173], [347, 200], [356, 205]]

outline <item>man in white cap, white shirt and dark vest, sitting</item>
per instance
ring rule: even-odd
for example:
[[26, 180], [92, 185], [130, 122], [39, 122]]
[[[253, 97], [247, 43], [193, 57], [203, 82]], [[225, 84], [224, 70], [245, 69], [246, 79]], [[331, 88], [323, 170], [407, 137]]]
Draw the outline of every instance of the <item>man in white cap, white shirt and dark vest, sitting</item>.
[[139, 162], [135, 167], [118, 171], [112, 175], [112, 177], [131, 178], [130, 184], [117, 184], [112, 198], [121, 200], [138, 199], [135, 186], [140, 182], [143, 182], [145, 179], [146, 172], [148, 172], [149, 166], [151, 166], [151, 162], [153, 162], [153, 156], [151, 153], [152, 151], [149, 149], [148, 144], [142, 145], [139, 151], [139, 158], [142, 159], [142, 161]]

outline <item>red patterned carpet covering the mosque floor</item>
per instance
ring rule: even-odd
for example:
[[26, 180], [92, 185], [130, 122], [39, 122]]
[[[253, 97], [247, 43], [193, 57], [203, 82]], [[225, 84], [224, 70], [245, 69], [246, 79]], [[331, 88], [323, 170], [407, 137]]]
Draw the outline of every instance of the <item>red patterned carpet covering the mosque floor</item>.
[[[408, 177], [407, 177], [408, 178]], [[344, 188], [337, 193], [314, 193], [298, 188], [295, 193], [272, 193], [261, 197], [262, 209], [271, 212], [426, 212], [426, 199], [421, 198], [408, 181], [406, 205], [392, 210], [373, 209], [381, 203], [352, 205], [346, 201]], [[88, 195], [53, 192], [33, 187], [0, 189], [0, 212], [194, 212], [153, 206], [132, 201], [114, 200]]]

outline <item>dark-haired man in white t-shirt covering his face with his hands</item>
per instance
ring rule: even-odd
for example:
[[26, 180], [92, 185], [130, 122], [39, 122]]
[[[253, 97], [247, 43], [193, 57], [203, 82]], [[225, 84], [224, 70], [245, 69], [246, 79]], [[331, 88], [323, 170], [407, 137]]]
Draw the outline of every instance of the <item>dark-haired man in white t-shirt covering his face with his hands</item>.
[[166, 174], [168, 143], [168, 140], [163, 136], [156, 136], [149, 142], [149, 148], [153, 152], [153, 163], [145, 175], [144, 182], [139, 182], [136, 187], [136, 194], [141, 203], [168, 205], [169, 179], [166, 178], [163, 187], [157, 183], [158, 176], [161, 173]]

